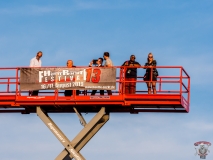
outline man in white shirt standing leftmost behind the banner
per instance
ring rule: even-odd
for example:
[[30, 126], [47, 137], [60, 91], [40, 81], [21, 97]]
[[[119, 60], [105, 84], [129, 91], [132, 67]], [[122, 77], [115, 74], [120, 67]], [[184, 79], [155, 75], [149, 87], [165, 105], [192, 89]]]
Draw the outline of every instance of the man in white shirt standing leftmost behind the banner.
[[[42, 51], [38, 51], [36, 56], [30, 60], [30, 67], [41, 67]], [[38, 96], [38, 90], [30, 91], [31, 96]]]

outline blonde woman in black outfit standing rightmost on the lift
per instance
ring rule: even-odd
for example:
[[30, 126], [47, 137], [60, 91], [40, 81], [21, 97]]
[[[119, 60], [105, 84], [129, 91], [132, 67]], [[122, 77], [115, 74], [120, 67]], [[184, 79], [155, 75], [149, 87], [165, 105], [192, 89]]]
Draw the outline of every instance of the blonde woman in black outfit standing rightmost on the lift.
[[[147, 57], [147, 62], [145, 63], [146, 73], [144, 75], [144, 81], [152, 81], [146, 82], [148, 88], [148, 94], [151, 94], [151, 87], [153, 90], [153, 94], [156, 94], [156, 81], [158, 76], [158, 71], [155, 68], [157, 65], [157, 61], [154, 60], [153, 54], [149, 53]], [[151, 68], [154, 67], [154, 68]], [[144, 68], [145, 69], [145, 68]], [[152, 71], [152, 73], [151, 73]]]

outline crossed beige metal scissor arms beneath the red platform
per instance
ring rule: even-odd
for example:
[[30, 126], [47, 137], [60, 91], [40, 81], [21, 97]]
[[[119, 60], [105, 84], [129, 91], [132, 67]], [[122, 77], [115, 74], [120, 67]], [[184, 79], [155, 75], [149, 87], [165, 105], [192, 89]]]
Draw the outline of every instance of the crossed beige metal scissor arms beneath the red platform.
[[[88, 124], [84, 120], [83, 116], [78, 113], [77, 109], [74, 108], [80, 121], [84, 125], [84, 128], [79, 134], [70, 142], [62, 131], [57, 127], [56, 124], [50, 119], [47, 113], [44, 113], [40, 107], [37, 107], [38, 116], [44, 121], [47, 127], [53, 132], [53, 134], [62, 143], [65, 149], [56, 157], [55, 160], [85, 160], [80, 154], [80, 150], [89, 142], [89, 140], [101, 129], [101, 127], [109, 120], [109, 113], [105, 112], [105, 107], [90, 120]], [[51, 125], [50, 125], [51, 123]], [[63, 141], [65, 142], [63, 142]]]

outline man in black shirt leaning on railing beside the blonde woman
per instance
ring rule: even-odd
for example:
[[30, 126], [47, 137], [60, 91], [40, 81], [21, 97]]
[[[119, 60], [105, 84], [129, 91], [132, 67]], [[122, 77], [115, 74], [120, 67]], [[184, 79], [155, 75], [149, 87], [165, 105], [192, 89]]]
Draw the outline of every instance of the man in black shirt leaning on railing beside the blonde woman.
[[[125, 61], [122, 66], [126, 66], [126, 73], [125, 73], [125, 81], [132, 81], [132, 82], [125, 82], [125, 94], [135, 94], [136, 88], [136, 79], [137, 79], [137, 68], [141, 65], [135, 61], [135, 55], [130, 56], [129, 61]], [[131, 68], [132, 67], [132, 68]]]

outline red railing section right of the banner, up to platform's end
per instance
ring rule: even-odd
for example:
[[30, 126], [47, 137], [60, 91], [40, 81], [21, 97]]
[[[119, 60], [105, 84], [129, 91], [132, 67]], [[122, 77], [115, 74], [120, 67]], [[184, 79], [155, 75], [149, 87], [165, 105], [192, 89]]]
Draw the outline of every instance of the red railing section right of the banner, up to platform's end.
[[[119, 91], [120, 93], [124, 94], [124, 92], [122, 92], [122, 86], [125, 85], [126, 82], [136, 82], [136, 84], [139, 83], [143, 83], [143, 85], [147, 82], [154, 82], [154, 81], [144, 81], [143, 78], [143, 74], [138, 74], [137, 76], [137, 80], [136, 81], [126, 81], [125, 80], [125, 73], [128, 70], [128, 68], [138, 68], [138, 69], [146, 69], [148, 67], [142, 66], [142, 67], [119, 67], [120, 69], [120, 76], [117, 77], [117, 80], [120, 82], [120, 87], [119, 87]], [[176, 70], [176, 75], [163, 75], [163, 76], [157, 76], [157, 81], [156, 83], [158, 84], [158, 88], [157, 88], [157, 94], [186, 94], [186, 99], [189, 101], [190, 100], [190, 77], [187, 74], [187, 72], [185, 71], [185, 69], [181, 66], [157, 66], [157, 67], [150, 67], [151, 68], [151, 72], [154, 68], [157, 68], [158, 70], [160, 69], [162, 72], [160, 72], [160, 74], [164, 74], [164, 70], [166, 69], [172, 69], [172, 71], [170, 72], [173, 73], [174, 70]], [[145, 71], [143, 72], [145, 73]], [[150, 79], [152, 79], [153, 74], [150, 74]], [[170, 88], [169, 90], [167, 89], [163, 89], [163, 85], [165, 84], [176, 84], [179, 86], [179, 88], [176, 87], [176, 89], [174, 89], [175, 87]], [[144, 85], [145, 86], [145, 85]], [[136, 93], [147, 93], [147, 90], [140, 90], [137, 88]]]

